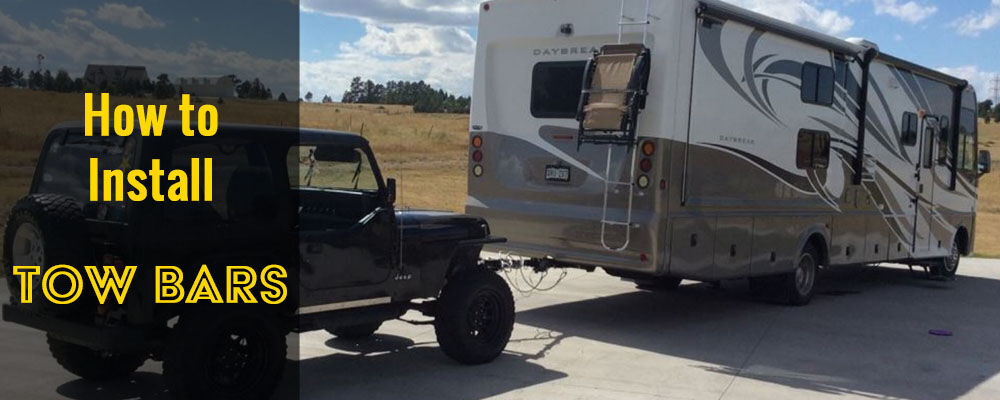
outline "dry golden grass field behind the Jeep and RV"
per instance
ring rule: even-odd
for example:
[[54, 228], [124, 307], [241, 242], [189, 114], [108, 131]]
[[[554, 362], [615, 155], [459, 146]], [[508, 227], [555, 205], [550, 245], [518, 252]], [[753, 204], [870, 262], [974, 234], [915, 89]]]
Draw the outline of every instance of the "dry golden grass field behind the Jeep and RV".
[[[0, 224], [31, 180], [38, 149], [52, 125], [82, 117], [83, 96], [0, 88]], [[112, 99], [118, 102], [148, 100]], [[168, 119], [179, 118], [176, 102]], [[362, 132], [372, 143], [383, 175], [399, 179], [399, 204], [461, 211], [466, 194], [468, 116], [414, 114], [410, 107], [301, 104], [229, 100], [217, 105], [227, 122], [293, 125]], [[45, 113], [35, 113], [45, 107]], [[1000, 125], [980, 126], [980, 145], [1000, 155]], [[994, 166], [1000, 163], [994, 162]], [[980, 182], [976, 253], [1000, 257], [1000, 171]]]

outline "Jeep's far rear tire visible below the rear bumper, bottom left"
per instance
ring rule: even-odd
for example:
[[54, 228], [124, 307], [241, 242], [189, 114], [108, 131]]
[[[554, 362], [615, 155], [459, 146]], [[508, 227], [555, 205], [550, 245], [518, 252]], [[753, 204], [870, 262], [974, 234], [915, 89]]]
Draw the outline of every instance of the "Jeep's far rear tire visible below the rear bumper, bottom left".
[[47, 335], [49, 352], [71, 374], [88, 381], [124, 379], [146, 362], [143, 354], [98, 351]]

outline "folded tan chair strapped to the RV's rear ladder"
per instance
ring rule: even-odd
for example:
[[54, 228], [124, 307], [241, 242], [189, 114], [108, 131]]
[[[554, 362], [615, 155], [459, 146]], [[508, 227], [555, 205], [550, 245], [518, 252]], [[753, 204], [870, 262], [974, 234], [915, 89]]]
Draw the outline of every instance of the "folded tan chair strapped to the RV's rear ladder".
[[577, 107], [578, 143], [634, 143], [639, 110], [645, 107], [649, 49], [609, 44], [587, 62]]

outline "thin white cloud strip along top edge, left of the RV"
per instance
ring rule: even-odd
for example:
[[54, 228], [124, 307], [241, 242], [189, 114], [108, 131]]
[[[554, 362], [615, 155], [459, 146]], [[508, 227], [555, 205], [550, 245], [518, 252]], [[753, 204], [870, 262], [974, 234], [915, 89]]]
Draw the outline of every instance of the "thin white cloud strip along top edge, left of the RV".
[[301, 0], [303, 11], [369, 23], [473, 26], [482, 0]]

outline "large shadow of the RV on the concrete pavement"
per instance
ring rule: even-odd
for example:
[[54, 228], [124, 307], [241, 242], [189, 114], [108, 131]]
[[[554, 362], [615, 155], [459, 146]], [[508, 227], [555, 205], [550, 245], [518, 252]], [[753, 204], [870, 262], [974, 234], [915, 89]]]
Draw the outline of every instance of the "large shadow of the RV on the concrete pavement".
[[[1000, 373], [1000, 281], [900, 268], [827, 271], [806, 307], [684, 285], [518, 314], [518, 322], [696, 361], [697, 368], [820, 393], [954, 399]], [[931, 329], [953, 337], [929, 334]], [[711, 364], [711, 366], [705, 366]]]

